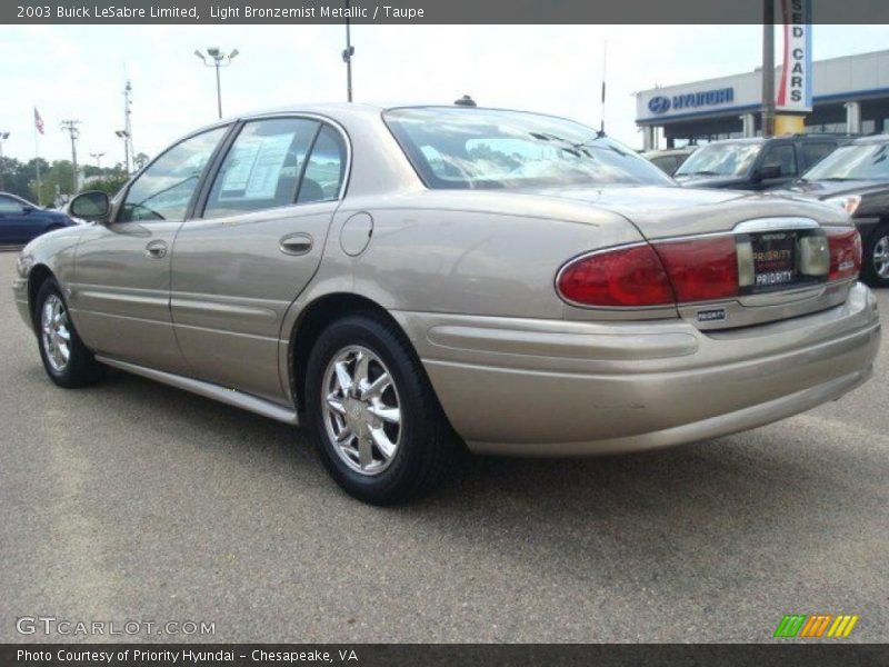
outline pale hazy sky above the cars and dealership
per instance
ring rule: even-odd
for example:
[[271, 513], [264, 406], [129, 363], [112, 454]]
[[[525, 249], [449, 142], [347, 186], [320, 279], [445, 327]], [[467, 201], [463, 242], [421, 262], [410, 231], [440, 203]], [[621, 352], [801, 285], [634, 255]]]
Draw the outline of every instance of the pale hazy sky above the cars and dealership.
[[[633, 92], [751, 71], [759, 26], [352, 26], [356, 101], [451, 103], [541, 111], [599, 126], [607, 42], [609, 135], [640, 148]], [[889, 26], [816, 26], [815, 59], [887, 48]], [[222, 70], [224, 116], [346, 100], [342, 26], [2, 26], [3, 155], [70, 159], [64, 119], [78, 119], [79, 161], [123, 160], [123, 86], [132, 82], [137, 152], [154, 155], [217, 118], [213, 70], [194, 49], [238, 49]]]

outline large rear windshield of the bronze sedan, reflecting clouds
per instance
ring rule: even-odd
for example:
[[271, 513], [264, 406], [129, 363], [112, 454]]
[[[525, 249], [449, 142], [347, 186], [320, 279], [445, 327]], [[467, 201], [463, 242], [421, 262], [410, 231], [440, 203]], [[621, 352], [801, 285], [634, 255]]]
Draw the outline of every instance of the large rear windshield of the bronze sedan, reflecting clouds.
[[466, 108], [394, 109], [383, 118], [434, 189], [673, 185], [632, 149], [569, 120]]

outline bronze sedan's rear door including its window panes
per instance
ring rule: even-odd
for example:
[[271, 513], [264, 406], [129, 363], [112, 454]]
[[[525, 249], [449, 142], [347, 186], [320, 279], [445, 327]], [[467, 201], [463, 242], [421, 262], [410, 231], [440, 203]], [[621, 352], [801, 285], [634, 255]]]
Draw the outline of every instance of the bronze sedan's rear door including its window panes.
[[281, 321], [321, 261], [343, 191], [344, 133], [318, 118], [250, 120], [180, 229], [172, 258], [177, 340], [194, 375], [272, 399]]

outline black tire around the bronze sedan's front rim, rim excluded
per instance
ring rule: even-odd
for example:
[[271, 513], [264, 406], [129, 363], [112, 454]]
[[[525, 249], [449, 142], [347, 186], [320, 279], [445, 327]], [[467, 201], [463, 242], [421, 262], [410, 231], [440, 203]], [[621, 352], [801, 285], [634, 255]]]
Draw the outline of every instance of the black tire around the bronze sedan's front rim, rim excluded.
[[52, 278], [49, 278], [40, 286], [34, 300], [34, 329], [37, 331], [37, 346], [40, 349], [40, 359], [43, 361], [43, 368], [49, 376], [49, 379], [56, 382], [59, 387], [66, 389], [73, 389], [76, 387], [88, 387], [104, 378], [107, 368], [99, 364], [93, 357], [92, 352], [86, 348], [80, 340], [73, 322], [70, 318], [67, 319], [67, 332], [69, 336], [68, 350], [69, 357], [67, 364], [58, 368], [58, 364], [50, 361], [49, 351], [47, 350], [47, 341], [43, 336], [43, 307], [51, 298], [58, 299], [64, 307], [66, 317], [68, 313], [68, 303], [62, 296], [59, 285]]

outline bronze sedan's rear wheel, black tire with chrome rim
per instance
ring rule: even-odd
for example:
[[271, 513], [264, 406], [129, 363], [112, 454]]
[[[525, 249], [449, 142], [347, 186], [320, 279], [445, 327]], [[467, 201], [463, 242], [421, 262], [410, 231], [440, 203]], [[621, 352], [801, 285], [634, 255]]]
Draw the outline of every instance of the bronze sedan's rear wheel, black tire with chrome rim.
[[373, 315], [324, 329], [307, 368], [308, 426], [350, 495], [388, 505], [422, 495], [453, 456], [450, 427], [403, 335]]

